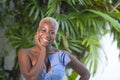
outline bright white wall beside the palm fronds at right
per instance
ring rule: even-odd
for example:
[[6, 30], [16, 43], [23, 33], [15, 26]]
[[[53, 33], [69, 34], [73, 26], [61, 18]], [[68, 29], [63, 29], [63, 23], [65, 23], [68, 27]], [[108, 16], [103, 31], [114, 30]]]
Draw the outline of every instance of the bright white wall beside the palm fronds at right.
[[118, 58], [117, 42], [113, 42], [113, 36], [106, 34], [101, 40], [101, 45], [108, 56], [108, 62], [106, 65], [98, 67], [97, 74], [91, 80], [120, 80], [120, 60]]

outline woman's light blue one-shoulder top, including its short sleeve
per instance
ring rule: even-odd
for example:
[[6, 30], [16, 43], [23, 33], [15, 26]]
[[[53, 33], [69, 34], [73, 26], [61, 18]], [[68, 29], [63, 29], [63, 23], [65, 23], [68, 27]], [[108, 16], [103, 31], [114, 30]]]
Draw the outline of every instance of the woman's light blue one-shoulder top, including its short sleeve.
[[47, 73], [45, 69], [39, 77], [39, 80], [62, 80], [65, 73], [65, 66], [70, 62], [69, 56], [64, 51], [59, 51], [48, 56], [51, 69]]

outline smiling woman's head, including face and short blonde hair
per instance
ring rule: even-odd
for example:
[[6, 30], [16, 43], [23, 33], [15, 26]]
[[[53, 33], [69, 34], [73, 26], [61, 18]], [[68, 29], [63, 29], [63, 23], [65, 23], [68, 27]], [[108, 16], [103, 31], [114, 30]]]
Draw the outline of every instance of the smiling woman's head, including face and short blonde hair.
[[[47, 17], [41, 20], [37, 34], [42, 45], [47, 46], [53, 43], [58, 30], [58, 23], [53, 18]], [[46, 45], [45, 45], [46, 44]]]

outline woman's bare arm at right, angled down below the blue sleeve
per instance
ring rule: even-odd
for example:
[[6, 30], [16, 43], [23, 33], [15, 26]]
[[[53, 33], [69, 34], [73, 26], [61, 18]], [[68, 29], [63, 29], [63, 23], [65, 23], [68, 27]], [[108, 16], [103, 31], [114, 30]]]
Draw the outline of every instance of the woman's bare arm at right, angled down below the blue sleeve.
[[69, 54], [68, 52], [66, 53], [71, 59], [68, 65], [81, 76], [80, 80], [89, 80], [90, 72], [87, 70], [87, 68], [73, 55]]

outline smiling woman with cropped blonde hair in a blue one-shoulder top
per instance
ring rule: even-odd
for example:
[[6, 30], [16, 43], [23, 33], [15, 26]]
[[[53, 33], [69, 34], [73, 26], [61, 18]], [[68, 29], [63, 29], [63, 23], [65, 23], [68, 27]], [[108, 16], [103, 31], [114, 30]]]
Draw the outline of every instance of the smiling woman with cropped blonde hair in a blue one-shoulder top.
[[54, 18], [40, 21], [35, 46], [18, 52], [21, 73], [26, 80], [62, 80], [68, 65], [81, 76], [80, 80], [89, 80], [90, 73], [82, 63], [67, 51], [52, 46], [57, 30], [58, 23]]

